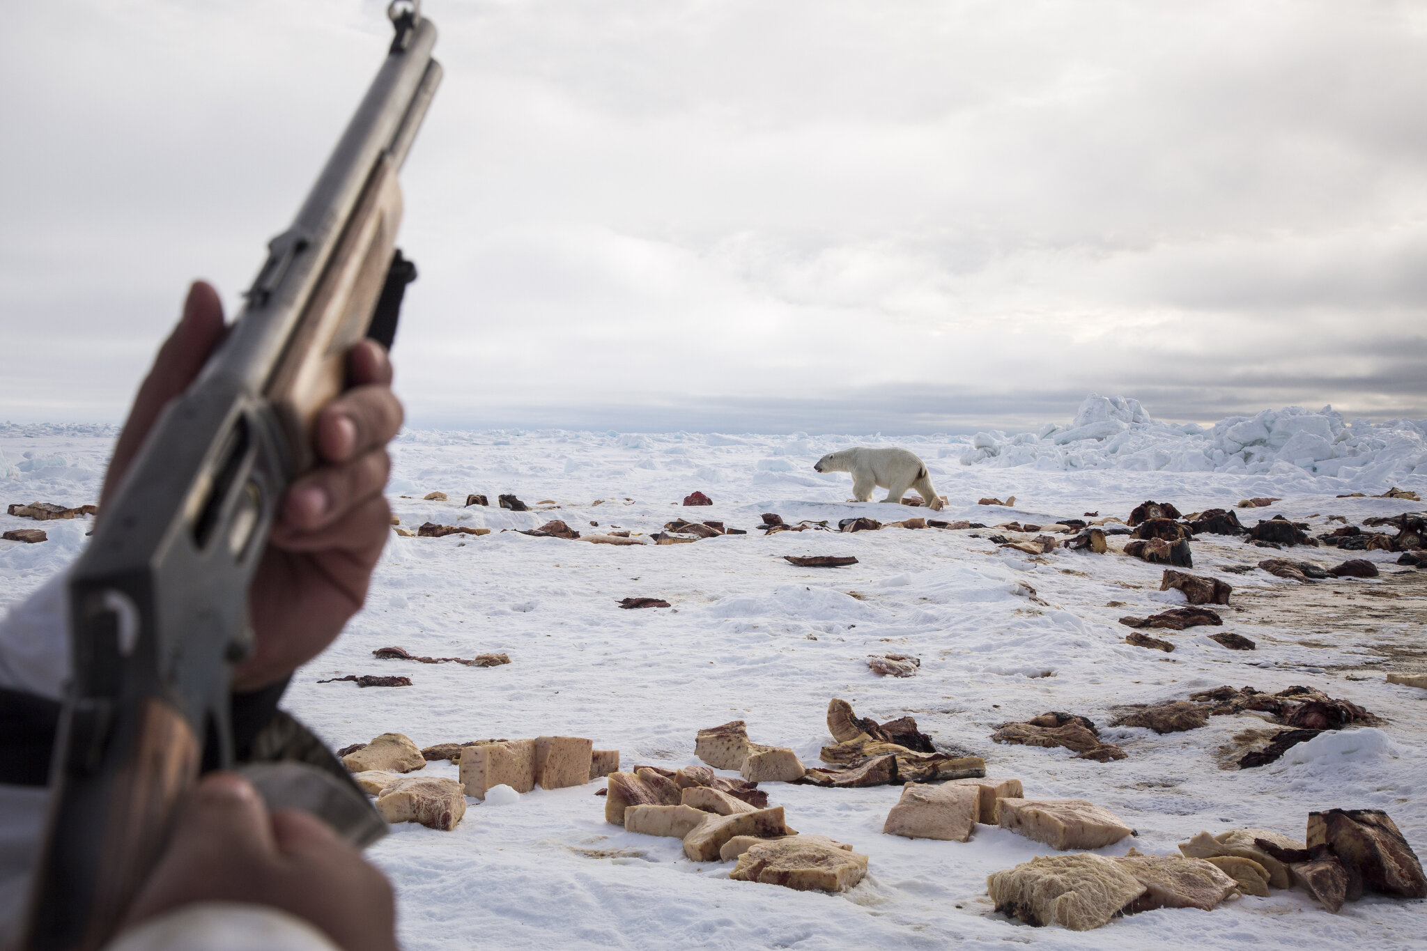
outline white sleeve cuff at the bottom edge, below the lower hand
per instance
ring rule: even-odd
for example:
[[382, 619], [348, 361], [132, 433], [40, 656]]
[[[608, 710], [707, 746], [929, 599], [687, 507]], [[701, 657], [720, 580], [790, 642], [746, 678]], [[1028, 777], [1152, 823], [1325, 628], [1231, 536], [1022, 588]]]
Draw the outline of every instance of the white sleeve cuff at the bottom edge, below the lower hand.
[[295, 915], [267, 905], [201, 901], [150, 918], [103, 951], [341, 951]]

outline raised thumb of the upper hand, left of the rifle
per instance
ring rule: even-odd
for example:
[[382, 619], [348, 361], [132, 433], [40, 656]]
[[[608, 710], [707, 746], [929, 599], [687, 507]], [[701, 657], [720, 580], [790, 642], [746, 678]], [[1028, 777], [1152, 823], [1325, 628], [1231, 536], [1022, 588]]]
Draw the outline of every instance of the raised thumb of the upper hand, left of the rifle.
[[218, 299], [218, 292], [207, 281], [194, 281], [183, 305], [183, 317], [158, 349], [148, 376], [134, 396], [128, 419], [124, 421], [124, 431], [114, 443], [114, 455], [104, 476], [104, 490], [100, 493], [101, 513], [110, 493], [124, 478], [128, 463], [144, 445], [144, 436], [148, 435], [160, 411], [170, 399], [188, 389], [188, 384], [203, 369], [204, 361], [223, 339], [223, 301]]

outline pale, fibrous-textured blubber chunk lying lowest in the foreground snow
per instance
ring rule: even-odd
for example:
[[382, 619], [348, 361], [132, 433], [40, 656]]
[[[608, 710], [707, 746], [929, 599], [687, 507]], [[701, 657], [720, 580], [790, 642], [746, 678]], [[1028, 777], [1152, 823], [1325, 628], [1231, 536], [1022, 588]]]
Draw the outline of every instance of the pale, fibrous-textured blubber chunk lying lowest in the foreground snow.
[[1144, 894], [1114, 860], [1080, 853], [1040, 855], [986, 878], [996, 911], [1026, 924], [1090, 931]]

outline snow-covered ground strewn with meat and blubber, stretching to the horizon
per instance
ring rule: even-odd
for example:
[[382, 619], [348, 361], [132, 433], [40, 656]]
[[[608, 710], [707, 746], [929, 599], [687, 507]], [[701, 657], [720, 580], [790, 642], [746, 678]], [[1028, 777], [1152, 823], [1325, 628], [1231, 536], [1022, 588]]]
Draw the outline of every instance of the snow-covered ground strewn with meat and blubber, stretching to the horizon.
[[[1079, 431], [1079, 432], [1077, 432]], [[0, 428], [0, 488], [9, 502], [94, 502], [113, 432], [103, 428]], [[1089, 399], [1070, 423], [1036, 433], [973, 438], [761, 436], [591, 432], [405, 432], [390, 488], [402, 526], [434, 520], [491, 528], [485, 536], [392, 538], [367, 609], [341, 640], [298, 672], [287, 706], [334, 746], [400, 731], [421, 746], [482, 737], [575, 734], [618, 749], [625, 766], [695, 763], [699, 727], [748, 721], [755, 741], [791, 746], [806, 763], [831, 741], [831, 697], [878, 720], [912, 714], [948, 747], [983, 756], [989, 776], [1019, 777], [1032, 797], [1104, 806], [1139, 831], [1102, 851], [1172, 853], [1200, 830], [1243, 826], [1303, 836], [1307, 813], [1387, 810], [1427, 855], [1427, 693], [1384, 683], [1423, 672], [1424, 573], [1367, 555], [1378, 579], [1323, 582], [1337, 615], [1301, 609], [1301, 586], [1261, 570], [1226, 573], [1276, 555], [1237, 539], [1194, 540], [1196, 573], [1234, 586], [1226, 626], [1256, 640], [1230, 652], [1203, 627], [1153, 632], [1163, 654], [1123, 642], [1123, 615], [1162, 610], [1160, 569], [1122, 555], [1057, 550], [1030, 557], [968, 530], [752, 530], [763, 512], [789, 523], [868, 515], [926, 515], [849, 503], [846, 475], [818, 475], [816, 458], [848, 445], [918, 452], [950, 505], [942, 518], [995, 525], [1057, 516], [1124, 518], [1144, 499], [1183, 512], [1283, 496], [1240, 512], [1283, 513], [1327, 526], [1420, 510], [1397, 499], [1336, 498], [1388, 486], [1427, 492], [1420, 422], [1353, 423], [1331, 412], [1279, 411], [1212, 429], [1152, 419], [1133, 401]], [[679, 500], [701, 489], [714, 506]], [[431, 490], [450, 502], [425, 502]], [[515, 513], [461, 506], [468, 492], [514, 492], [555, 509]], [[1015, 508], [979, 506], [1016, 496]], [[548, 506], [539, 506], [548, 508]], [[581, 532], [649, 535], [672, 518], [721, 519], [748, 535], [692, 545], [615, 548], [501, 529], [551, 518]], [[0, 516], [4, 528], [36, 523]], [[591, 523], [598, 522], [598, 528]], [[0, 542], [6, 600], [23, 597], [67, 563], [84, 520], [49, 522], [44, 545]], [[980, 536], [980, 538], [977, 538]], [[785, 555], [855, 555], [846, 569], [799, 569]], [[1323, 565], [1334, 549], [1294, 549]], [[1360, 556], [1361, 553], [1354, 553]], [[1401, 575], [1398, 575], [1401, 572]], [[1035, 595], [1032, 596], [1032, 590]], [[621, 610], [628, 596], [671, 609]], [[1113, 605], [1112, 605], [1113, 602]], [[1296, 605], [1300, 607], [1296, 609]], [[1243, 607], [1236, 613], [1234, 607]], [[492, 669], [377, 660], [507, 652]], [[869, 654], [922, 659], [916, 677], [872, 674]], [[315, 683], [348, 673], [407, 674], [407, 689]], [[1182, 699], [1220, 684], [1320, 687], [1384, 717], [1378, 730], [1324, 734], [1257, 770], [1220, 768], [1220, 747], [1256, 717], [1156, 736], [1104, 729], [1126, 703]], [[1129, 757], [1072, 759], [1069, 750], [999, 746], [996, 724], [1047, 710], [1092, 717]], [[447, 763], [427, 771], [454, 776]], [[372, 858], [397, 884], [401, 935], [411, 950], [468, 947], [995, 947], [1202, 948], [1420, 947], [1427, 905], [1364, 898], [1330, 915], [1301, 891], [1239, 898], [1213, 913], [1162, 910], [1086, 934], [1030, 928], [996, 915], [986, 875], [1052, 850], [979, 827], [969, 843], [880, 834], [899, 788], [823, 790], [768, 784], [799, 831], [852, 843], [870, 857], [868, 880], [842, 895], [728, 880], [731, 864], [688, 861], [675, 838], [604, 821], [602, 783], [537, 790], [509, 806], [471, 808], [454, 833], [404, 826]]]

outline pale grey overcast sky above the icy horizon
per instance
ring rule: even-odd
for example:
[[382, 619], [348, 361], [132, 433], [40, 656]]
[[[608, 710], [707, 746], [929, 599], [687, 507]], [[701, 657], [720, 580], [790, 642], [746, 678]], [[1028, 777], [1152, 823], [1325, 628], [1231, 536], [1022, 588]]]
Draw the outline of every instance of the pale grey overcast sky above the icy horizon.
[[[414, 425], [965, 432], [1090, 391], [1427, 416], [1427, 7], [427, 0]], [[235, 309], [384, 0], [19, 3], [0, 419]]]

